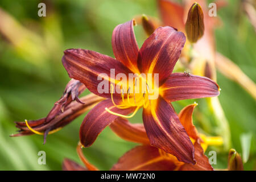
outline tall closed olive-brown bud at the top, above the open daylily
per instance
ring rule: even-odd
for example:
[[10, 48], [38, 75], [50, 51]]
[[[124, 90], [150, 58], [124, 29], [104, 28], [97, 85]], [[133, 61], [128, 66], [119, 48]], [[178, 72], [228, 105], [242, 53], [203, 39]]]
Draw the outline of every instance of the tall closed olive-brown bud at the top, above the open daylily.
[[204, 35], [204, 14], [201, 6], [196, 2], [188, 11], [185, 30], [191, 43], [197, 42]]

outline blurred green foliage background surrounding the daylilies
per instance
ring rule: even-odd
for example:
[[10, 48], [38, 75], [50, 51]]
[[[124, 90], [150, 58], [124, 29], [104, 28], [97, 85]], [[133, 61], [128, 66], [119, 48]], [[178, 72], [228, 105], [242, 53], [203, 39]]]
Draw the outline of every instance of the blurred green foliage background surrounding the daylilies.
[[[46, 3], [46, 17], [38, 16], [40, 2]], [[76, 146], [80, 123], [85, 114], [59, 132], [49, 135], [45, 145], [43, 137], [39, 135], [9, 137], [16, 133], [14, 121], [45, 117], [54, 102], [59, 100], [69, 81], [61, 64], [65, 49], [92, 49], [113, 56], [113, 28], [139, 14], [159, 17], [156, 2], [1, 0], [0, 8], [11, 16], [11, 19], [0, 17], [0, 28], [9, 28], [11, 35], [8, 38], [0, 32], [0, 169], [60, 170], [64, 158], [81, 163]], [[217, 50], [239, 65], [255, 82], [256, 36], [253, 26], [241, 10], [240, 1], [230, 1], [227, 7], [218, 11], [218, 16], [223, 25], [215, 32]], [[146, 39], [141, 26], [135, 27], [135, 34], [141, 46]], [[220, 102], [232, 134], [232, 147], [241, 154], [241, 134], [252, 134], [250, 156], [245, 169], [255, 169], [255, 100], [236, 82], [220, 73], [217, 77], [222, 89]], [[205, 117], [212, 117], [204, 108], [204, 100], [197, 102], [199, 106], [196, 111], [203, 111]], [[192, 103], [191, 100], [181, 101], [174, 106], [179, 111]], [[141, 122], [141, 111], [131, 121]], [[194, 121], [197, 123], [195, 117]], [[118, 138], [107, 128], [84, 153], [92, 164], [108, 170], [134, 146], [134, 143]], [[38, 164], [37, 154], [41, 150], [46, 151], [46, 165]], [[217, 164], [213, 167], [226, 168], [227, 151], [216, 150]]]

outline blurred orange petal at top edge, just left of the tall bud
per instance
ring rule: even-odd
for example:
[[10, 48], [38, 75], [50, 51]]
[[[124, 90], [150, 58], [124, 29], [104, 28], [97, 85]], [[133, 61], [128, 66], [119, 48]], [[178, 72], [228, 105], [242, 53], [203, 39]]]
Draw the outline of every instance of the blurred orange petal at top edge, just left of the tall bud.
[[158, 6], [164, 24], [184, 32], [184, 8], [170, 0], [158, 0]]

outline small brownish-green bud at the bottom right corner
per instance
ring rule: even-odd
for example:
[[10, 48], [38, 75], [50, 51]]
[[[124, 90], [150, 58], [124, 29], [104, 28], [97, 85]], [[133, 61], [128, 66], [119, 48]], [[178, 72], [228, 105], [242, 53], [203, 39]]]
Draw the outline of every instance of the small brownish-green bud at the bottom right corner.
[[228, 170], [229, 171], [243, 171], [243, 162], [241, 156], [233, 148], [229, 151], [228, 158]]

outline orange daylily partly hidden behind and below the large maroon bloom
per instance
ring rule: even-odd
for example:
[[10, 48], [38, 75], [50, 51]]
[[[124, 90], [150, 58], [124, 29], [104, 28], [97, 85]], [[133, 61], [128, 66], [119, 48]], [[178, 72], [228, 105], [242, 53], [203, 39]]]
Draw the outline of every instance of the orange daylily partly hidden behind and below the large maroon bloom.
[[[204, 155], [204, 150], [206, 150], [208, 144], [222, 144], [222, 138], [206, 137], [197, 133], [196, 127], [193, 125], [192, 121], [192, 113], [196, 105], [197, 104], [188, 105], [179, 113], [180, 122], [183, 124], [194, 143], [195, 159], [197, 160], [195, 165], [179, 162], [174, 155], [167, 154], [163, 150], [151, 146], [142, 123], [133, 124], [125, 118], [118, 118], [110, 125], [110, 128], [119, 137], [143, 145], [134, 147], [126, 152], [110, 170], [213, 170], [207, 156]], [[82, 154], [81, 144], [77, 146], [77, 153], [86, 168], [81, 167], [72, 160], [65, 159], [63, 162], [64, 170], [98, 170], [98, 168], [89, 163]]]

